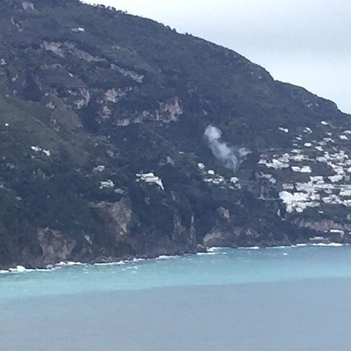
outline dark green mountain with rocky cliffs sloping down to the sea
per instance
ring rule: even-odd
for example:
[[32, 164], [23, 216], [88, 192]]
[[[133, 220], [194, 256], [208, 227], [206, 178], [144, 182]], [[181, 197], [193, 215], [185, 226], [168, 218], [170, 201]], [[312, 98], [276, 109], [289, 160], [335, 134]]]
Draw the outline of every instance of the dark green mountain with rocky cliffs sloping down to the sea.
[[351, 119], [232, 50], [0, 4], [0, 266], [350, 242]]

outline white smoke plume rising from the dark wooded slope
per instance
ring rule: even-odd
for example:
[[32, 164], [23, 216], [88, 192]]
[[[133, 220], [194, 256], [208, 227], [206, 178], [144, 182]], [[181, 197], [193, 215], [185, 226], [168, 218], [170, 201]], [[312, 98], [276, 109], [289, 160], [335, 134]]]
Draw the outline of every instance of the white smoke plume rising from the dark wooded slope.
[[228, 146], [227, 143], [220, 140], [222, 132], [215, 126], [208, 126], [205, 131], [205, 137], [208, 141], [213, 155], [219, 159], [225, 168], [237, 171], [242, 161], [251, 151], [245, 147]]

